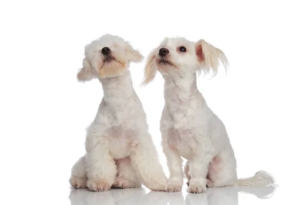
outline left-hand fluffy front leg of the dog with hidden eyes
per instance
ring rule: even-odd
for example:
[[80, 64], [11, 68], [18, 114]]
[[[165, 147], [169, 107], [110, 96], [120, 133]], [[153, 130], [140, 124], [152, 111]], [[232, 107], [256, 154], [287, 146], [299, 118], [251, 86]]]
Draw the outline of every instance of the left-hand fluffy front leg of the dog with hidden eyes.
[[87, 187], [96, 192], [108, 191], [115, 179], [116, 165], [107, 142], [99, 141], [93, 146], [87, 146], [86, 151]]

